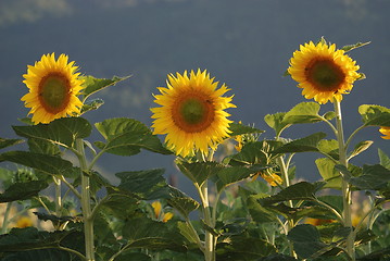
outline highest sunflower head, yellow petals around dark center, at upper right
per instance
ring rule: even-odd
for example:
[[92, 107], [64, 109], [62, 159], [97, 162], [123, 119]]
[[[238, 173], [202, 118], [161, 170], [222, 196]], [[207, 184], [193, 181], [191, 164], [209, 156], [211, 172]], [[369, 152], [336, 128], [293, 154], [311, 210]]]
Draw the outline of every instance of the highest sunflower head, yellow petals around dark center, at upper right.
[[353, 83], [360, 78], [357, 70], [355, 61], [343, 50], [336, 50], [336, 45], [311, 41], [294, 51], [288, 73], [303, 88], [306, 99], [314, 98], [324, 104], [334, 99], [340, 102], [342, 95], [352, 90]]

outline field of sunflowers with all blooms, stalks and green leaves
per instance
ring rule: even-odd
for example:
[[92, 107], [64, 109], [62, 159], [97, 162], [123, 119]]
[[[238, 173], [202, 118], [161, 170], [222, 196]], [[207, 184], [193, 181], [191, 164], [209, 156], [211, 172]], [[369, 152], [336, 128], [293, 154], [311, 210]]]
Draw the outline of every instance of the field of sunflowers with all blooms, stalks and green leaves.
[[[0, 138], [0, 161], [17, 166], [0, 169], [0, 260], [390, 260], [390, 158], [378, 149], [376, 164], [350, 162], [373, 144], [356, 140], [362, 129], [390, 139], [390, 109], [361, 104], [361, 125], [343, 128], [343, 97], [365, 78], [350, 53], [367, 44], [338, 49], [322, 38], [286, 58], [285, 76], [309, 101], [264, 116], [273, 139], [229, 120], [234, 89], [200, 69], [167, 75], [151, 126], [90, 123], [84, 114], [104, 103], [96, 95], [131, 77], [96, 78], [66, 54], [43, 54], [23, 75], [30, 111], [12, 126], [20, 138]], [[309, 136], [284, 135], [314, 123]], [[163, 169], [119, 172], [112, 184], [96, 167], [103, 154], [142, 150], [175, 156], [198, 197]], [[316, 153], [320, 181], [295, 177], [293, 157], [304, 152]]]

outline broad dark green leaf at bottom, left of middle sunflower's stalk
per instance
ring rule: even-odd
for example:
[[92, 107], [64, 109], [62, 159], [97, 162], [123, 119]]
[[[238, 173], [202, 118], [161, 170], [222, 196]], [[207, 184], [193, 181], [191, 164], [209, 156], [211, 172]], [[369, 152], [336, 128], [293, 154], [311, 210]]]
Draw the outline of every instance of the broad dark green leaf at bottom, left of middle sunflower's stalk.
[[127, 249], [171, 249], [185, 251], [184, 238], [178, 231], [169, 231], [165, 223], [148, 217], [131, 219], [123, 227], [123, 236], [128, 240]]

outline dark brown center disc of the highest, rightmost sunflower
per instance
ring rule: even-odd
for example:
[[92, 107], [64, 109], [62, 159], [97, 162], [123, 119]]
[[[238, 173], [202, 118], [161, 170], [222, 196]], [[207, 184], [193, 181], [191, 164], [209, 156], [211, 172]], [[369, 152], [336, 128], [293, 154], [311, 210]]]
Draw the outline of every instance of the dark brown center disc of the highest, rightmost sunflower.
[[319, 91], [336, 92], [345, 79], [344, 72], [329, 59], [313, 59], [306, 65], [304, 74]]

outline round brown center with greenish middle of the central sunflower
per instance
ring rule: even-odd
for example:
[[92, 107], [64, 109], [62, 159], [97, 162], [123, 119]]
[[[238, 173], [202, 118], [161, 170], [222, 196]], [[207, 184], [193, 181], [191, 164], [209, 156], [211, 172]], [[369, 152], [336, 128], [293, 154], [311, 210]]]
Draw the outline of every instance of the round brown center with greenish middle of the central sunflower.
[[186, 133], [200, 133], [214, 121], [215, 108], [210, 97], [196, 91], [181, 94], [172, 107], [176, 126]]

